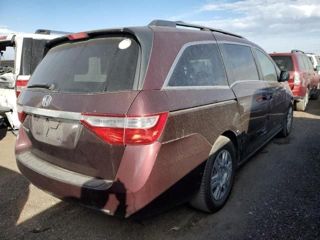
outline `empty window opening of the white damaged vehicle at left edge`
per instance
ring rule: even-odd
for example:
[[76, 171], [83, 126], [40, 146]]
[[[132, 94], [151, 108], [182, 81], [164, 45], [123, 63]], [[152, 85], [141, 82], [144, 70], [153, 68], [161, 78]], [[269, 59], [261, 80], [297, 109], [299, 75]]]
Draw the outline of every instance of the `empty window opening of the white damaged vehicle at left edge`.
[[10, 41], [0, 42], [0, 74], [14, 72], [14, 47]]

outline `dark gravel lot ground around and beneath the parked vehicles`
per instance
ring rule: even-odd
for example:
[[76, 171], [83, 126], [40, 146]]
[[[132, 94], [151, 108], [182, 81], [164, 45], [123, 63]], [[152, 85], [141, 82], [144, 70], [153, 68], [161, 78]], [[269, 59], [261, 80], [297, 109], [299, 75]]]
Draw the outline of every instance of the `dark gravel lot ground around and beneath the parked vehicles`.
[[0, 129], [0, 239], [320, 239], [320, 100], [294, 112], [292, 132], [238, 169], [219, 212], [184, 204], [121, 219], [62, 202], [19, 173], [15, 136]]

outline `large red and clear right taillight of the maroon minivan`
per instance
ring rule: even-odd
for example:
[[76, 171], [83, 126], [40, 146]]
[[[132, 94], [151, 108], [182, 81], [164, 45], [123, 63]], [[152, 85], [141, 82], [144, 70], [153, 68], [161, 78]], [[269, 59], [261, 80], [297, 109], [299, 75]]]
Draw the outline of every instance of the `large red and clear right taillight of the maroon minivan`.
[[161, 134], [168, 112], [147, 115], [82, 113], [81, 122], [110, 144], [142, 145]]

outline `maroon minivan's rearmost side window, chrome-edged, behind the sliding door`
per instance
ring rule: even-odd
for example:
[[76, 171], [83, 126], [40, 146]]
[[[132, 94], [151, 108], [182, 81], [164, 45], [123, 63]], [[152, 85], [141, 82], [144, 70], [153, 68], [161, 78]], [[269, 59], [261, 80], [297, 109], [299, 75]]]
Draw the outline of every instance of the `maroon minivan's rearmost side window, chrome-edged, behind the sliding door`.
[[227, 80], [216, 44], [186, 47], [168, 82], [168, 86], [221, 85], [227, 85]]

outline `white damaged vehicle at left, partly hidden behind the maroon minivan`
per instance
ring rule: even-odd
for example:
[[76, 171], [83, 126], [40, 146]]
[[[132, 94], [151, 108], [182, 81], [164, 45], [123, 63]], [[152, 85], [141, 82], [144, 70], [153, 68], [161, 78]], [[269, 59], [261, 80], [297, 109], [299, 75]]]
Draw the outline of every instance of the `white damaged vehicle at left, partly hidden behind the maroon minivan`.
[[7, 117], [13, 129], [19, 127], [16, 97], [41, 60], [44, 43], [68, 33], [38, 29], [34, 34], [12, 33], [0, 36], [0, 123]]

